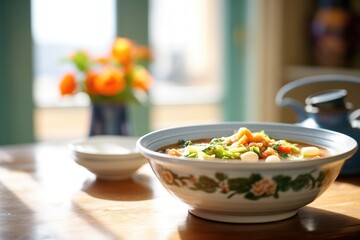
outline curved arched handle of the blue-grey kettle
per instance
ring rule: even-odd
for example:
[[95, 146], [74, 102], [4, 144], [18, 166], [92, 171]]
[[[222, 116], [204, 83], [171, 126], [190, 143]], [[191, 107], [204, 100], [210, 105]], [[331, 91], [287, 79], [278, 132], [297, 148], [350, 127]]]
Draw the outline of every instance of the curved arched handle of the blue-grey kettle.
[[279, 89], [275, 97], [275, 103], [280, 107], [291, 107], [298, 114], [298, 121], [302, 122], [306, 119], [306, 113], [302, 104], [292, 98], [285, 98], [285, 95], [302, 86], [314, 83], [324, 82], [350, 82], [360, 84], [360, 77], [342, 75], [342, 74], [321, 74], [300, 78], [285, 84]]

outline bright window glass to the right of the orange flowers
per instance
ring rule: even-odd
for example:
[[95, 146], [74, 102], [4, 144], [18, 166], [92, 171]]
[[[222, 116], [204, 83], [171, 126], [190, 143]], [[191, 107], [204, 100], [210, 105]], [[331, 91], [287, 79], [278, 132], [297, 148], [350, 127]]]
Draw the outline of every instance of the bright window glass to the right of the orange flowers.
[[154, 104], [219, 102], [221, 1], [152, 0]]

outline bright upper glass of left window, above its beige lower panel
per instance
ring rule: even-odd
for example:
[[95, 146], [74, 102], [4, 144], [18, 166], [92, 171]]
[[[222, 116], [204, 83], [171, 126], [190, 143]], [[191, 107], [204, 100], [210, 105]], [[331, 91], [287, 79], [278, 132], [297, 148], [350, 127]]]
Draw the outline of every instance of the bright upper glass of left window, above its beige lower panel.
[[77, 49], [108, 51], [116, 33], [115, 0], [32, 0], [34, 101], [37, 107], [84, 106], [88, 98], [59, 98], [58, 82], [69, 68], [61, 60]]

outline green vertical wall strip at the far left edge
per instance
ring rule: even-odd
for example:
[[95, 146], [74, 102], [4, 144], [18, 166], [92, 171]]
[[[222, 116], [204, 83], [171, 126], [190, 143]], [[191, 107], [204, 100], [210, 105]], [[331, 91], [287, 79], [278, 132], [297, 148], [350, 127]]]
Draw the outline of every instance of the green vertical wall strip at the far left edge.
[[34, 141], [30, 1], [0, 1], [0, 145]]

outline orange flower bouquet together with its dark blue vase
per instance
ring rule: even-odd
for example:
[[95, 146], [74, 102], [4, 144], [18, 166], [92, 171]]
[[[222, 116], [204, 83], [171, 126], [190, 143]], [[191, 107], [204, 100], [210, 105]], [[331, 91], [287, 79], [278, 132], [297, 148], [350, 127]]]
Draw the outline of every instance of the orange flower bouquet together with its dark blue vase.
[[118, 37], [111, 51], [92, 57], [84, 50], [65, 59], [76, 71], [67, 72], [60, 81], [60, 93], [86, 93], [92, 106], [90, 135], [128, 135], [126, 106], [144, 102], [153, 79], [146, 65], [150, 50], [130, 39]]

